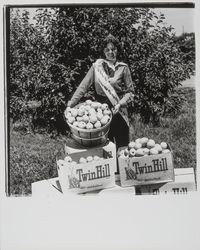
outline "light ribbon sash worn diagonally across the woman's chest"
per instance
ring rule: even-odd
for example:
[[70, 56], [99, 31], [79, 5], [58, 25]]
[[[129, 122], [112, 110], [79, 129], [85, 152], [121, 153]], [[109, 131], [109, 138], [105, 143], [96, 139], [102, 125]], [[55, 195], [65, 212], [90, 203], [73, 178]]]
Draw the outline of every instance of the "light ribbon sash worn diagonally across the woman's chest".
[[[115, 106], [119, 102], [119, 96], [117, 95], [115, 89], [111, 84], [108, 82], [108, 76], [106, 75], [103, 66], [97, 63], [94, 63], [95, 68], [95, 77], [97, 82], [100, 84], [101, 88], [103, 89], [104, 93], [108, 97], [109, 101], [113, 106]], [[120, 108], [119, 111], [120, 115], [123, 117], [127, 125], [129, 126], [128, 120], [128, 112], [126, 108]]]

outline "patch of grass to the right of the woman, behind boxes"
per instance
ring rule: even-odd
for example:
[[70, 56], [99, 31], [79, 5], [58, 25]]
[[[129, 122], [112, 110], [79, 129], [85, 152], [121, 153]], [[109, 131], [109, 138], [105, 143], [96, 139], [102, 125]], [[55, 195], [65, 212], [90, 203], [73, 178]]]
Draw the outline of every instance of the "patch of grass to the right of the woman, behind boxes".
[[161, 118], [161, 125], [152, 127], [133, 117], [131, 138], [146, 136], [156, 142], [165, 141], [173, 150], [175, 168], [196, 168], [195, 90], [181, 88], [179, 92], [184, 94], [186, 101], [176, 118]]

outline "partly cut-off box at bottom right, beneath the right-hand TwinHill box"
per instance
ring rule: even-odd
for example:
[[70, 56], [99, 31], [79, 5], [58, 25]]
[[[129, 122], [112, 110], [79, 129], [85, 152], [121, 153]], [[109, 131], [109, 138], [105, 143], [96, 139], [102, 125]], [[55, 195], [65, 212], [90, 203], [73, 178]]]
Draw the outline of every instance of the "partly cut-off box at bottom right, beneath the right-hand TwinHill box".
[[196, 191], [193, 168], [175, 168], [175, 181], [137, 186], [136, 194], [188, 194]]

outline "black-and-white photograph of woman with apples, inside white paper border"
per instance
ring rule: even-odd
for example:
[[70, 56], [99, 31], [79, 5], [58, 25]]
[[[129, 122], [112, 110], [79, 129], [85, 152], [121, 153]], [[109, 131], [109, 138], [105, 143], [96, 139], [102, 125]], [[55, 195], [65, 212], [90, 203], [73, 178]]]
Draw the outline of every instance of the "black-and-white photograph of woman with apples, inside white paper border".
[[196, 190], [194, 4], [5, 14], [7, 195]]

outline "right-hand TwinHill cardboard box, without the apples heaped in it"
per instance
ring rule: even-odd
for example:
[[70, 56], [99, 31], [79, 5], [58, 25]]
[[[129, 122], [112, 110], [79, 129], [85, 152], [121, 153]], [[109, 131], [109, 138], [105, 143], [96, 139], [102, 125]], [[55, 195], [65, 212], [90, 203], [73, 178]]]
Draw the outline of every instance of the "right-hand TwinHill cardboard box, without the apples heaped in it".
[[118, 163], [122, 187], [174, 181], [172, 152], [141, 157], [119, 157]]

